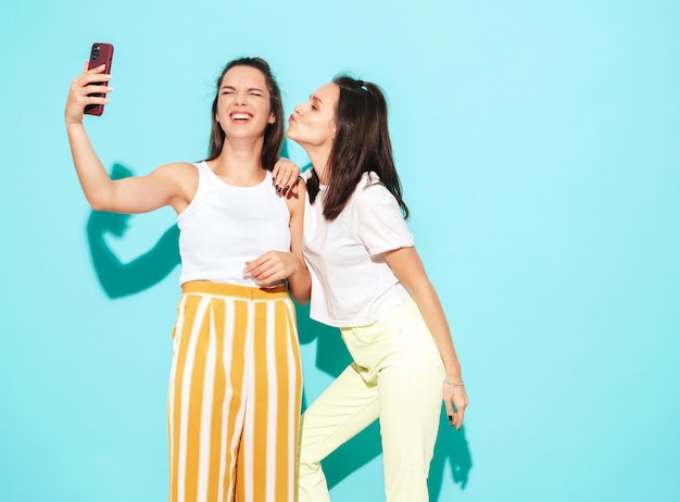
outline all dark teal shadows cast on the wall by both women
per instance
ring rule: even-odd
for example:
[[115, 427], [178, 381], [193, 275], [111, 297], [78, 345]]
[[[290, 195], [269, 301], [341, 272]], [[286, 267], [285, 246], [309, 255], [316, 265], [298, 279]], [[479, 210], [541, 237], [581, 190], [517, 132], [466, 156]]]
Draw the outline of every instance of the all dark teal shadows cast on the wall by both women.
[[[121, 164], [114, 164], [111, 173], [113, 179], [131, 175], [133, 172]], [[129, 214], [92, 211], [87, 223], [87, 236], [95, 271], [102, 289], [112, 299], [134, 294], [152, 287], [180, 263], [177, 225], [168, 228], [151, 250], [131, 262], [122, 263], [109, 248], [104, 235], [110, 233], [116, 237], [123, 237], [129, 218]], [[311, 343], [317, 339], [316, 368], [331, 377], [337, 377], [352, 361], [340, 338], [339, 330], [312, 321], [308, 306], [297, 306], [297, 311], [300, 343]], [[303, 393], [303, 411], [306, 404]], [[324, 461], [328, 487], [332, 488], [379, 456], [381, 450], [380, 428], [376, 421]], [[465, 427], [459, 431], [452, 429], [442, 406], [439, 436], [428, 479], [430, 500], [439, 500], [444, 476], [446, 476], [446, 465], [451, 466], [453, 481], [465, 489], [473, 467], [465, 439]]]

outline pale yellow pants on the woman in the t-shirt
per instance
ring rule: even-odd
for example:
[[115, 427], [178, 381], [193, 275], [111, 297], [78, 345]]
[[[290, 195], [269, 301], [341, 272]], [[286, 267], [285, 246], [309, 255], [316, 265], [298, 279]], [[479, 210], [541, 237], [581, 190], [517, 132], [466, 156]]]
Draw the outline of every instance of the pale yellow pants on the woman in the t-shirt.
[[389, 502], [427, 502], [444, 367], [412, 299], [368, 325], [340, 330], [353, 364], [302, 416], [298, 502], [328, 502], [320, 462], [380, 421]]

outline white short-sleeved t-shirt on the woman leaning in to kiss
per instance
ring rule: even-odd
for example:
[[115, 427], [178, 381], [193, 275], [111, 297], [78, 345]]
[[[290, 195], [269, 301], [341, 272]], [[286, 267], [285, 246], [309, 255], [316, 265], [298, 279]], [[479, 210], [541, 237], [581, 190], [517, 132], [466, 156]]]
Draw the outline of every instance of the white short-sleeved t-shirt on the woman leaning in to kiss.
[[377, 175], [364, 174], [340, 215], [324, 218], [322, 186], [304, 210], [302, 251], [312, 275], [310, 316], [338, 326], [365, 326], [408, 298], [382, 253], [414, 246], [396, 199]]

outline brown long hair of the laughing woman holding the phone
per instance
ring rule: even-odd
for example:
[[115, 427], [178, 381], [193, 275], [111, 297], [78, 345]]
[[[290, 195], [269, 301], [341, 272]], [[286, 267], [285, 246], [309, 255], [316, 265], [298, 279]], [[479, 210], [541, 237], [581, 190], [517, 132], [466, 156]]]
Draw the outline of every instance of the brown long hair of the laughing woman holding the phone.
[[217, 114], [217, 98], [219, 97], [219, 86], [225, 74], [235, 66], [250, 66], [255, 70], [260, 70], [264, 75], [264, 79], [269, 90], [269, 108], [276, 122], [269, 124], [264, 131], [264, 143], [262, 147], [262, 166], [268, 171], [274, 168], [274, 164], [278, 160], [281, 146], [284, 145], [284, 104], [281, 102], [281, 91], [276, 83], [276, 78], [269, 68], [267, 63], [262, 58], [239, 58], [227, 63], [222, 71], [219, 78], [217, 78], [217, 89], [215, 91], [215, 99], [213, 99], [213, 106], [211, 110], [211, 137], [210, 147], [207, 150], [207, 159], [212, 161], [216, 159], [222, 152], [224, 146], [225, 134], [222, 127], [217, 123], [215, 115]]

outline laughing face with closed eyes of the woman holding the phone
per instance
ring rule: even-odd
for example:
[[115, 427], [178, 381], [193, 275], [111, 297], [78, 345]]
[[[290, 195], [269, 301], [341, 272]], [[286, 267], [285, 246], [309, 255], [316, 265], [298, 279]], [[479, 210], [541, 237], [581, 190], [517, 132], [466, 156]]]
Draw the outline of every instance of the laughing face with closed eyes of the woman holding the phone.
[[276, 117], [263, 73], [238, 65], [225, 73], [217, 91], [215, 120], [227, 138], [260, 138]]

